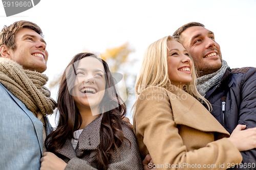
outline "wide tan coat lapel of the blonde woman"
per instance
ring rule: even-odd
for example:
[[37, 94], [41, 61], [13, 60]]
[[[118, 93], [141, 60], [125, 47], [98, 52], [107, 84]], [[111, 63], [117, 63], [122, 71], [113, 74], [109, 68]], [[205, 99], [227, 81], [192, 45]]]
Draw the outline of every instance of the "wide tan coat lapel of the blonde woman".
[[184, 90], [170, 85], [167, 95], [176, 124], [203, 132], [220, 132], [229, 135], [218, 120], [196, 98]]

